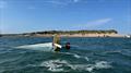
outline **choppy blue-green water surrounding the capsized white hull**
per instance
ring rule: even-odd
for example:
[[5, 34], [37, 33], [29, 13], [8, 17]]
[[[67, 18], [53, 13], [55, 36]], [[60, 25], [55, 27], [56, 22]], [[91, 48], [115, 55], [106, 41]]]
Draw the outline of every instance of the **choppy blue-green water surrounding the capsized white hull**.
[[50, 42], [49, 37], [1, 37], [0, 73], [131, 73], [130, 38], [61, 38], [71, 50], [16, 49]]

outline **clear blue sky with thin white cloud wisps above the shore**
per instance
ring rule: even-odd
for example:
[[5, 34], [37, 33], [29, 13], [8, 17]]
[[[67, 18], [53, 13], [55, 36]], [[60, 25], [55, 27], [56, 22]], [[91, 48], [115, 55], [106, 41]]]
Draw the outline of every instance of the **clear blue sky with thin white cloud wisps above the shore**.
[[131, 0], [0, 0], [0, 33], [116, 29], [131, 34]]

